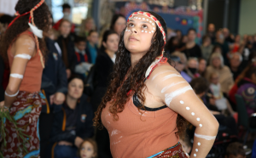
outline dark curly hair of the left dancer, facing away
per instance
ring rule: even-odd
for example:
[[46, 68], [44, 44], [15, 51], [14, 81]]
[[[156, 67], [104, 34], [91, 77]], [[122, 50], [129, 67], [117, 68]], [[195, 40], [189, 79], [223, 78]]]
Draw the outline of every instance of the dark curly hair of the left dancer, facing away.
[[[32, 8], [34, 8], [41, 0], [19, 0], [15, 6], [15, 10], [19, 12], [19, 14], [25, 14], [26, 12], [30, 12]], [[7, 50], [9, 45], [14, 42], [15, 38], [20, 35], [20, 33], [26, 31], [29, 28], [30, 14], [26, 14], [24, 16], [20, 16], [13, 25], [11, 25], [7, 31], [3, 34], [3, 38], [0, 42], [0, 54], [3, 59], [7, 59]], [[38, 29], [43, 31], [48, 31], [49, 29], [49, 17], [50, 12], [46, 3], [43, 3], [39, 8], [37, 8], [33, 12], [34, 22], [37, 25]], [[44, 57], [46, 56], [46, 45], [44, 39], [38, 38], [39, 49], [41, 50]], [[6, 61], [6, 60], [5, 60]]]

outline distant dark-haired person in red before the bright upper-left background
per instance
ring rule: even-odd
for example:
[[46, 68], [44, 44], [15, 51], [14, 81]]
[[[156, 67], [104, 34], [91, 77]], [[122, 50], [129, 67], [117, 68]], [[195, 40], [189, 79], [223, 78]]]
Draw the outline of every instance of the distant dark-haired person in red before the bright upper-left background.
[[[53, 26], [53, 28], [56, 31], [59, 31], [59, 27], [61, 25], [62, 20], [71, 21], [71, 6], [68, 3], [64, 3], [62, 5], [62, 12], [63, 12], [63, 18], [61, 20], [58, 20], [58, 22], [56, 22], [56, 24]], [[74, 31], [75, 31], [75, 25], [71, 24], [71, 32], [74, 33]]]

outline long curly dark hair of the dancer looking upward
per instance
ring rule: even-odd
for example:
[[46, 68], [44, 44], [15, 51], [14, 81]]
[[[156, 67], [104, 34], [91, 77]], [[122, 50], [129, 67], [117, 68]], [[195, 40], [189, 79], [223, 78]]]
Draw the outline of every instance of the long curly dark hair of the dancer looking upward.
[[[160, 24], [164, 28], [164, 31], [167, 32], [166, 22], [160, 17], [160, 15], [155, 14], [154, 12], [145, 11], [149, 14], [153, 14], [154, 17], [160, 21]], [[113, 119], [115, 121], [119, 120], [118, 113], [122, 112], [125, 109], [125, 103], [129, 100], [133, 93], [137, 93], [137, 97], [140, 100], [141, 104], [145, 102], [145, 95], [143, 89], [146, 87], [144, 83], [145, 73], [148, 69], [148, 66], [154, 62], [155, 58], [162, 54], [162, 49], [165, 47], [165, 42], [163, 40], [163, 35], [158, 27], [154, 32], [154, 37], [151, 40], [151, 46], [148, 52], [137, 62], [137, 65], [130, 69], [131, 67], [131, 54], [125, 48], [124, 43], [124, 33], [122, 31], [120, 40], [119, 40], [119, 50], [117, 52], [115, 64], [113, 65], [113, 74], [110, 85], [108, 86], [107, 93], [102, 99], [102, 103], [99, 105], [95, 113], [94, 126], [102, 127], [101, 115], [102, 110], [106, 107], [106, 104], [110, 102], [112, 105], [109, 107], [109, 111], [113, 114]], [[168, 59], [171, 63], [171, 59]], [[125, 79], [126, 74], [130, 74]], [[129, 93], [130, 90], [133, 93]], [[114, 99], [113, 99], [114, 98]], [[144, 109], [139, 107], [139, 110]], [[177, 134], [183, 136], [187, 127], [187, 121], [180, 115], [177, 116]]]

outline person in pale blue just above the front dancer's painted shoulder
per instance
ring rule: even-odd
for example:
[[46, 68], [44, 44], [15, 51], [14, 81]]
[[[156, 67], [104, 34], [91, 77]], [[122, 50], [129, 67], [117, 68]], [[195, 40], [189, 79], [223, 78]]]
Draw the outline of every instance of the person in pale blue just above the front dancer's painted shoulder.
[[185, 54], [176, 51], [171, 55], [170, 58], [172, 59], [172, 61], [174, 61], [175, 65], [173, 66], [175, 67], [175, 69], [177, 69], [177, 71], [180, 72], [181, 76], [183, 76], [183, 78], [187, 82], [191, 82], [192, 78], [186, 72], [183, 71], [187, 63], [187, 58]]

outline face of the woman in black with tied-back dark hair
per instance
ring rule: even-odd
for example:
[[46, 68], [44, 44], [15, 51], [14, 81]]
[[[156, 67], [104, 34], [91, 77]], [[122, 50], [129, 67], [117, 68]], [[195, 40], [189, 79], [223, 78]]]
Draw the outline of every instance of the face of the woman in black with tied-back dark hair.
[[110, 52], [117, 52], [119, 49], [119, 35], [108, 35], [107, 42], [102, 42], [103, 46]]

